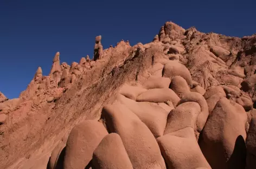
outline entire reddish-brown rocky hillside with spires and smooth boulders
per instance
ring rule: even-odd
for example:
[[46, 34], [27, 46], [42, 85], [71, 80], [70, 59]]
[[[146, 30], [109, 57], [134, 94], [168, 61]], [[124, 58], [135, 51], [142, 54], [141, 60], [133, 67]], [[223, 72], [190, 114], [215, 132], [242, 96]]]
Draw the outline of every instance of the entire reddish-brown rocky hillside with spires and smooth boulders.
[[0, 93], [1, 168], [256, 168], [256, 35], [167, 22]]

